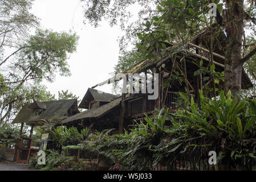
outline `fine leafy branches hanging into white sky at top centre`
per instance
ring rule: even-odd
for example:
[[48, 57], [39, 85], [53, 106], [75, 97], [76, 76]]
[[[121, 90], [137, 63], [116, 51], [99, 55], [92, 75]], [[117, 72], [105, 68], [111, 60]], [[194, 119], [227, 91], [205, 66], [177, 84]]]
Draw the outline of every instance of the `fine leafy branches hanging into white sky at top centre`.
[[[159, 0], [80, 0], [84, 7], [84, 23], [90, 23], [94, 27], [100, 26], [100, 22], [104, 19], [109, 22], [110, 26], [119, 25], [121, 30], [125, 31], [125, 35], [119, 39], [121, 51], [125, 51], [129, 43], [135, 44], [137, 32], [143, 30], [145, 20], [151, 19], [155, 15], [159, 15], [156, 4]], [[141, 9], [137, 14], [135, 21], [130, 21], [133, 14], [133, 6], [140, 6]]]

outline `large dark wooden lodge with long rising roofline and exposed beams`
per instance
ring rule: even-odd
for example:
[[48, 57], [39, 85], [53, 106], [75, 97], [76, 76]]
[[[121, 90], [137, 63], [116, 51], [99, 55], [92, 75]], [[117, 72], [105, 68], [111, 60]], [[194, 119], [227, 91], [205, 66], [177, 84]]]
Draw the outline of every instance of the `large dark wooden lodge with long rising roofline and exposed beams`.
[[[224, 71], [225, 67], [224, 48], [226, 45], [222, 41], [224, 39], [225, 35], [220, 33], [219, 37], [213, 40], [212, 63], [215, 65], [215, 71], [220, 73]], [[173, 52], [172, 55], [141, 61], [124, 72], [127, 80], [129, 73], [139, 73], [146, 77], [153, 73], [159, 73], [159, 97], [156, 100], [148, 100], [147, 93], [123, 93], [121, 96], [114, 96], [108, 93], [99, 93], [94, 89], [115, 80], [115, 78], [109, 78], [88, 89], [79, 105], [80, 108], [88, 110], [64, 119], [62, 124], [88, 127], [94, 123], [95, 129], [99, 131], [115, 128], [119, 129], [119, 133], [123, 133], [124, 128], [127, 129], [133, 121], [143, 119], [145, 114], [155, 113], [155, 109], [162, 107], [169, 107], [170, 110], [176, 109], [174, 102], [177, 92], [188, 93], [190, 97], [194, 97], [194, 100], [199, 102], [199, 90], [205, 89], [206, 85], [210, 87], [214, 84], [219, 89], [223, 88], [224, 85], [221, 80], [216, 84], [214, 79], [210, 79], [209, 74], [205, 75], [208, 77], [205, 80], [202, 75], [195, 74], [200, 69], [200, 60], [203, 61], [202, 66], [210, 65], [209, 42], [209, 32], [205, 31], [192, 39], [186, 46], [182, 44], [174, 46], [174, 44], [165, 43], [167, 49]], [[158, 50], [155, 49], [154, 51]], [[181, 77], [183, 81], [178, 77]], [[252, 86], [250, 78], [242, 70], [242, 89]], [[209, 91], [208, 96], [213, 97], [214, 93]]]

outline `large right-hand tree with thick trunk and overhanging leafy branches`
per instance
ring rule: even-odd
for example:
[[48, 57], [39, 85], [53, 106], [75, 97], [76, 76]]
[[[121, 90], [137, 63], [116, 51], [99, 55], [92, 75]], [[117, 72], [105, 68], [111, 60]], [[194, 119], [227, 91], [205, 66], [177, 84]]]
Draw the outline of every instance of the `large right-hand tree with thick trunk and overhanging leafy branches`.
[[[87, 1], [85, 16], [90, 23], [95, 24], [100, 22], [101, 18], [109, 18], [109, 22], [115, 22], [117, 18], [129, 17], [126, 11], [116, 13], [123, 5], [123, 9], [135, 3], [155, 4], [155, 9], [151, 8], [148, 18], [144, 18], [143, 31], [138, 32], [139, 39], [143, 40], [143, 47], [151, 51], [150, 47], [159, 46], [160, 42], [168, 40], [174, 44], [182, 42], [184, 46], [188, 40], [193, 38], [195, 34], [208, 28], [208, 31], [215, 30], [225, 32], [225, 84], [224, 90], [227, 94], [231, 90], [231, 96], [234, 97], [241, 91], [242, 66], [256, 53], [255, 42], [251, 44], [249, 52], [243, 56], [243, 47], [246, 45], [245, 28], [250, 28], [254, 32], [256, 25], [255, 18], [255, 2], [250, 0], [225, 0], [225, 1], [198, 1], [198, 0], [163, 0], [163, 1], [129, 1], [123, 2], [118, 0], [109, 0], [106, 3], [101, 1]], [[215, 22], [209, 16], [209, 3], [217, 4], [217, 16]], [[113, 5], [115, 4], [115, 5]], [[111, 7], [112, 6], [112, 7]], [[114, 8], [115, 7], [115, 8]], [[121, 8], [121, 7], [120, 7]], [[141, 12], [147, 10], [142, 7]], [[155, 12], [155, 13], [152, 13]], [[112, 14], [112, 15], [111, 15]], [[125, 14], [125, 15], [124, 15]], [[145, 14], [144, 14], [145, 15]], [[152, 16], [153, 15], [153, 16]], [[113, 23], [111, 23], [112, 25]], [[134, 28], [136, 30], [136, 27]], [[212, 32], [212, 36], [217, 36], [218, 32]], [[213, 43], [212, 43], [213, 44]], [[141, 44], [140, 44], [141, 47]], [[212, 51], [212, 50], [210, 50]], [[168, 53], [162, 51], [164, 55]], [[149, 58], [151, 58], [149, 54]], [[212, 59], [212, 58], [211, 58]]]

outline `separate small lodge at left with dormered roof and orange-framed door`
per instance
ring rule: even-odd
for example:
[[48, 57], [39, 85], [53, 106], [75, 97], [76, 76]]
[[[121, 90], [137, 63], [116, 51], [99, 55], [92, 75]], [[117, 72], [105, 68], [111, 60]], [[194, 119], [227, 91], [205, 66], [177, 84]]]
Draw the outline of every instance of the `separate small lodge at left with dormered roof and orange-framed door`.
[[[19, 146], [15, 146], [14, 161], [18, 163], [28, 162], [34, 126], [46, 125], [53, 118], [66, 118], [77, 113], [79, 113], [79, 110], [76, 99], [47, 102], [34, 101], [33, 103], [25, 104], [12, 123], [21, 123], [20, 135], [23, 133], [24, 123], [31, 126], [30, 136], [29, 138], [22, 137]], [[52, 122], [54, 123], [55, 121]]]

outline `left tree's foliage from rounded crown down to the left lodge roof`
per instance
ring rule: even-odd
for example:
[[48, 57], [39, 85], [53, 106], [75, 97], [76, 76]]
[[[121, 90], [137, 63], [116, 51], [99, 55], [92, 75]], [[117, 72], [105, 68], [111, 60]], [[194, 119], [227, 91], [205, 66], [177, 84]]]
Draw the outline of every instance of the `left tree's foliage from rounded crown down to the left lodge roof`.
[[78, 36], [75, 33], [37, 30], [35, 35], [20, 45], [17, 59], [7, 65], [9, 75], [0, 77], [3, 80], [0, 90], [0, 123], [3, 119], [9, 121], [25, 102], [55, 99], [40, 82], [43, 79], [53, 81], [57, 71], [62, 76], [71, 74], [67, 59], [68, 54], [76, 50], [77, 42]]

